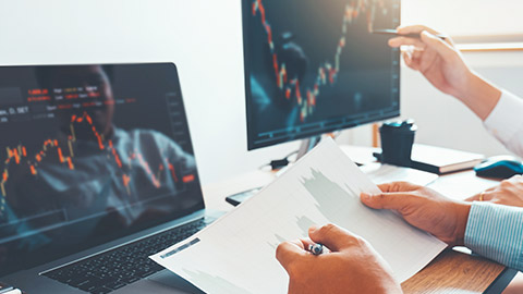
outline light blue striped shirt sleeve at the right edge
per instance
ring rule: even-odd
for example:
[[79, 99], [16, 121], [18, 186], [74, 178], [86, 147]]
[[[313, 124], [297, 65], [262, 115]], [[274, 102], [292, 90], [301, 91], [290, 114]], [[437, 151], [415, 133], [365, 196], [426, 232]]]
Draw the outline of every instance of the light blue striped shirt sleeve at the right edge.
[[465, 245], [478, 255], [523, 271], [523, 208], [474, 203]]

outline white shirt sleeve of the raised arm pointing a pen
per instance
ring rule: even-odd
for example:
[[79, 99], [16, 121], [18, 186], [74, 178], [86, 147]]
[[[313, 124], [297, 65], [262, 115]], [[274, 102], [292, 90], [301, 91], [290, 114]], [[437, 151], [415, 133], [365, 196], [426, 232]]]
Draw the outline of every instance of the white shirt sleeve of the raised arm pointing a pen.
[[484, 124], [509, 150], [523, 157], [523, 99], [503, 91]]

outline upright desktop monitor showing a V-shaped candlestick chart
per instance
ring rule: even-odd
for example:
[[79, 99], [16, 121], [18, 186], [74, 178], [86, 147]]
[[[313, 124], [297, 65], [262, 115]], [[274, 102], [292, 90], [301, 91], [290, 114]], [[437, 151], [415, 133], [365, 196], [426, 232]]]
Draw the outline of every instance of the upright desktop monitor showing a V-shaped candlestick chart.
[[400, 0], [242, 0], [248, 149], [400, 114]]

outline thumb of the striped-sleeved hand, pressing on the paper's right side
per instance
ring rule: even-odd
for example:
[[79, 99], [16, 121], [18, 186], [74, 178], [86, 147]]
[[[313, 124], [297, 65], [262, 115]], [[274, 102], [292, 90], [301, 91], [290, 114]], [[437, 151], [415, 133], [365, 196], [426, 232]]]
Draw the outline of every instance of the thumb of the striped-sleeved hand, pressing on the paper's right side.
[[362, 193], [362, 203], [374, 209], [392, 209], [401, 213], [405, 207], [417, 201], [417, 196], [409, 193], [380, 193], [369, 195]]

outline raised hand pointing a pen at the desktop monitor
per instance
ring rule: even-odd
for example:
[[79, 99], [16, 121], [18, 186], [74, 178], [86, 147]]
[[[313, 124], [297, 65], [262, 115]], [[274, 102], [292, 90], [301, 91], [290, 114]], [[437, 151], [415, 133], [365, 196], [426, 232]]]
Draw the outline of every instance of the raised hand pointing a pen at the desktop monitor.
[[485, 120], [498, 103], [501, 90], [474, 73], [464, 62], [450, 37], [441, 39], [438, 32], [423, 26], [403, 26], [398, 34], [421, 34], [421, 39], [396, 37], [389, 46], [409, 46], [403, 59], [409, 68], [421, 72], [436, 88], [460, 99], [479, 119]]

